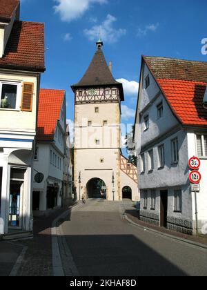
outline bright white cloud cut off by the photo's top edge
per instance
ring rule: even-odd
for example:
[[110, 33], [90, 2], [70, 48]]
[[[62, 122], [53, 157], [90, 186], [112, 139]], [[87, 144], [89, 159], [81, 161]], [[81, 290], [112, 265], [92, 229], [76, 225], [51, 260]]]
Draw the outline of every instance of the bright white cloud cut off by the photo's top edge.
[[107, 3], [108, 0], [54, 0], [55, 13], [59, 13], [62, 21], [72, 21], [83, 16], [90, 9], [92, 3]]

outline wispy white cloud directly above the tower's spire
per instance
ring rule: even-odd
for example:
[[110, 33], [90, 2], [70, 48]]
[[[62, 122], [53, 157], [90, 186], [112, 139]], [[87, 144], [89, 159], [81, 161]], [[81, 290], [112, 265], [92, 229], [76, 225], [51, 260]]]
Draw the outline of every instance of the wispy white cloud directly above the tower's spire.
[[90, 41], [97, 40], [99, 33], [101, 32], [101, 39], [104, 42], [115, 43], [123, 35], [126, 35], [126, 29], [116, 29], [113, 27], [117, 18], [108, 14], [106, 19], [101, 23], [101, 25], [92, 26], [90, 29], [85, 29], [84, 33]]

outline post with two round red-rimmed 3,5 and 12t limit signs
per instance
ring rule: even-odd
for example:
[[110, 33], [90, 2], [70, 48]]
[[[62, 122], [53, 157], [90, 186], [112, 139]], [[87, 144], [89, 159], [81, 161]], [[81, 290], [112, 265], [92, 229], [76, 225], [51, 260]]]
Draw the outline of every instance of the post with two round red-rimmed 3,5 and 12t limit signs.
[[191, 191], [195, 192], [195, 220], [196, 235], [198, 236], [198, 211], [197, 211], [197, 192], [200, 191], [201, 173], [197, 171], [201, 166], [201, 161], [197, 157], [190, 158], [188, 165], [193, 171], [190, 172], [189, 180], [191, 182]]

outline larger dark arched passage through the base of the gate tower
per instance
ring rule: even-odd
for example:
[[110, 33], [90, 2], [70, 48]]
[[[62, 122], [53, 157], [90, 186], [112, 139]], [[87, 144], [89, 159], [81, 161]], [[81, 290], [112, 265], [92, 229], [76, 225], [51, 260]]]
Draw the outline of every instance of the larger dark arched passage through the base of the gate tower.
[[87, 183], [88, 198], [106, 198], [106, 184], [99, 178], [92, 178]]

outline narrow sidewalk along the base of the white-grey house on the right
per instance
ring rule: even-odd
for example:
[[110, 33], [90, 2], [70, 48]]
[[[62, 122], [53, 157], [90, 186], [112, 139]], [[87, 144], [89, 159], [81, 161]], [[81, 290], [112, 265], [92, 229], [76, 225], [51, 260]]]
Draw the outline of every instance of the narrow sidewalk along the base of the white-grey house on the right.
[[154, 226], [152, 224], [148, 224], [146, 222], [142, 222], [141, 220], [139, 220], [139, 214], [136, 211], [136, 209], [125, 209], [125, 213], [128, 217], [128, 219], [132, 220], [132, 222], [135, 222], [135, 224], [142, 226], [146, 229], [152, 229], [154, 231], [158, 231], [160, 233], [165, 233], [167, 235], [172, 235], [175, 238], [181, 238], [181, 239], [185, 239], [188, 240], [189, 242], [195, 242], [195, 243], [199, 243], [199, 244], [204, 244], [205, 246], [207, 246], [207, 235], [204, 236], [199, 236], [198, 238], [195, 237], [194, 235], [185, 235], [184, 233], [177, 233], [174, 231], [170, 231], [166, 228], [161, 228], [159, 226]]

